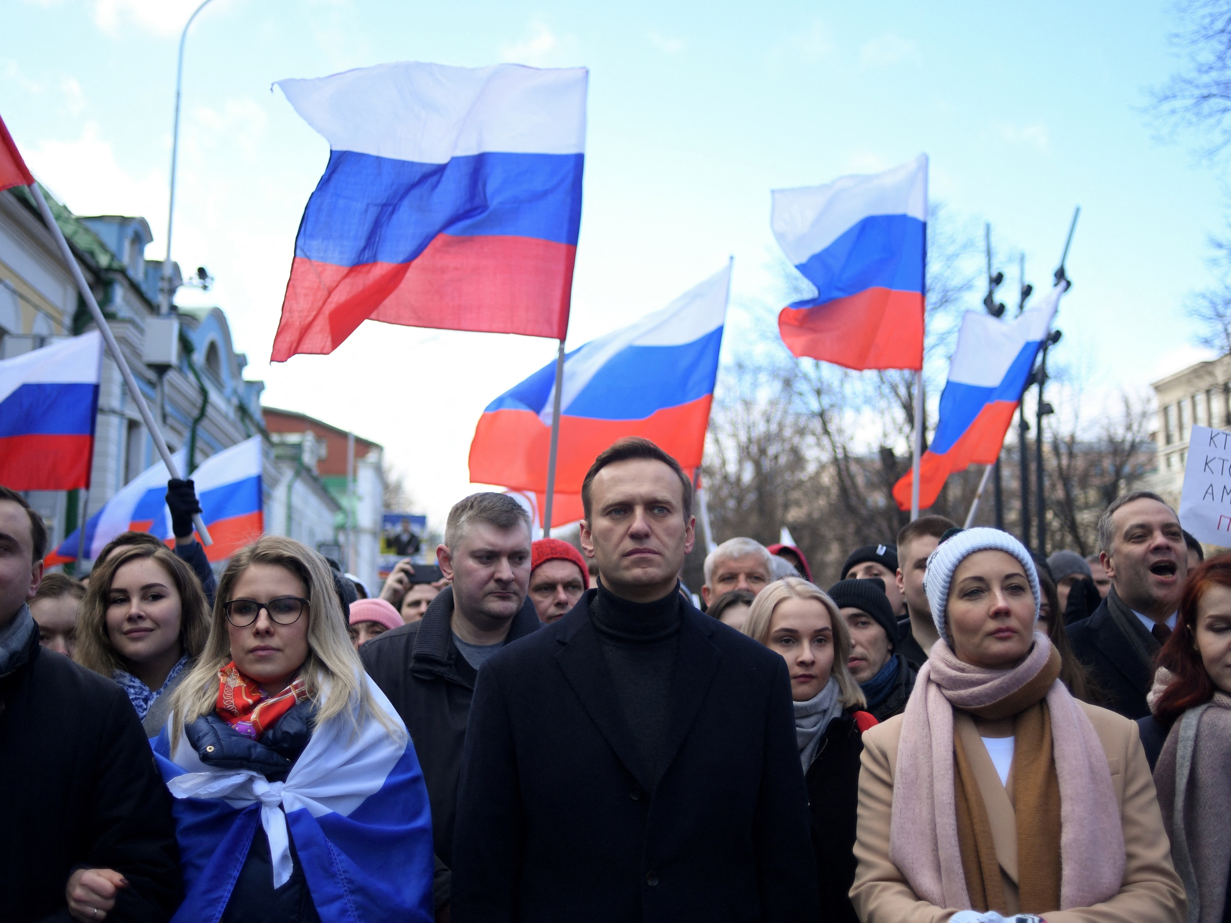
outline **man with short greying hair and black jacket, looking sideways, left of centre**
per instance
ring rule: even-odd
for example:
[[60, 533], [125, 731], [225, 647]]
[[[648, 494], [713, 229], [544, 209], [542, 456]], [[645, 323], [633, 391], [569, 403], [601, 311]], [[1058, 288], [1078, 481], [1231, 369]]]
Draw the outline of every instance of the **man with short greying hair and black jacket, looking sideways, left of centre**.
[[[533, 634], [539, 619], [526, 589], [531, 527], [503, 493], [475, 493], [454, 505], [436, 550], [452, 581], [422, 620], [385, 631], [359, 649], [363, 666], [401, 715], [415, 743], [432, 802], [437, 916], [449, 903], [453, 820], [474, 681], [483, 660]], [[478, 655], [474, 649], [489, 645]]]

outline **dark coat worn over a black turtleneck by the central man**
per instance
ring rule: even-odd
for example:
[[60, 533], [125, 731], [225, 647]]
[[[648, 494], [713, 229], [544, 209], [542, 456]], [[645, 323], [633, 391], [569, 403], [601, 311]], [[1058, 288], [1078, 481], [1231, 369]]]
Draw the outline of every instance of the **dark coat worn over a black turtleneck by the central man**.
[[785, 661], [684, 603], [654, 786], [590, 619], [595, 593], [479, 671], [454, 923], [815, 923]]

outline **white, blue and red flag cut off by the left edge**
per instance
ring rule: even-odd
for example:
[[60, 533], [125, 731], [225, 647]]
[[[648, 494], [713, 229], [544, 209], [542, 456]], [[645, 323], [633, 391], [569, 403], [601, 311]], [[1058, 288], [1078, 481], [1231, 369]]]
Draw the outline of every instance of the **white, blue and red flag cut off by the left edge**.
[[90, 486], [101, 375], [97, 330], [0, 362], [0, 484]]

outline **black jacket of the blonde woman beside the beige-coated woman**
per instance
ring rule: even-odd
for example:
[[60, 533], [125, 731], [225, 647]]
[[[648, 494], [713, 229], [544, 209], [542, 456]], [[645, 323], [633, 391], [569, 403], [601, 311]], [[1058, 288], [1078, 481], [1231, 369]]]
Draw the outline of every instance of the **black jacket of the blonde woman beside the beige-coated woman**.
[[808, 810], [812, 820], [812, 854], [821, 898], [821, 919], [859, 923], [851, 903], [854, 882], [856, 810], [859, 805], [859, 758], [863, 735], [854, 717], [830, 721], [816, 758], [808, 767]]

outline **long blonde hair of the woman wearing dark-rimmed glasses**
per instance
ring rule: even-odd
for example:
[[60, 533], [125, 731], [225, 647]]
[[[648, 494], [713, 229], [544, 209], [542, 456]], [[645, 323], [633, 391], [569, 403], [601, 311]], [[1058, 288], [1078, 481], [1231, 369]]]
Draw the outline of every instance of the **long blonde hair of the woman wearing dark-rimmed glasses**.
[[375, 708], [359, 655], [351, 644], [334, 578], [325, 559], [307, 545], [282, 535], [263, 535], [231, 557], [218, 581], [209, 636], [192, 672], [171, 698], [171, 747], [183, 736], [183, 726], [213, 713], [218, 700], [218, 671], [233, 660], [224, 604], [240, 575], [255, 564], [283, 567], [303, 581], [308, 596], [308, 657], [299, 668], [308, 697], [316, 705], [316, 724], [346, 711], [357, 731], [361, 721], [375, 717], [394, 738], [401, 729], [383, 709]]

